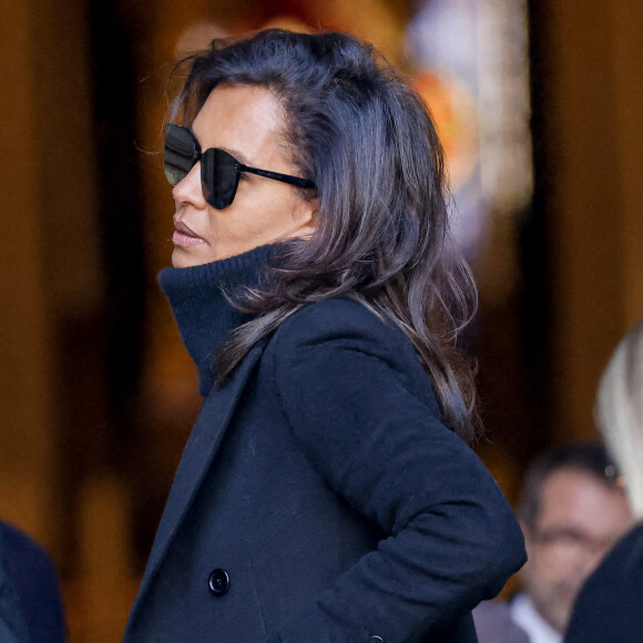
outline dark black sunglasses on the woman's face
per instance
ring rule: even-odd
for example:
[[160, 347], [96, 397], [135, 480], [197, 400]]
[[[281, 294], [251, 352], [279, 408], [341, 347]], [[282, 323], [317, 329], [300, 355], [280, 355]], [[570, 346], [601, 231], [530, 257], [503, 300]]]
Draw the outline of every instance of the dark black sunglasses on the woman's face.
[[190, 130], [167, 123], [165, 125], [163, 170], [170, 184], [176, 185], [183, 181], [200, 161], [203, 196], [216, 210], [223, 210], [234, 201], [242, 172], [257, 174], [297, 187], [315, 187], [315, 183], [307, 178], [248, 167], [218, 147], [211, 147], [202, 152], [198, 141]]

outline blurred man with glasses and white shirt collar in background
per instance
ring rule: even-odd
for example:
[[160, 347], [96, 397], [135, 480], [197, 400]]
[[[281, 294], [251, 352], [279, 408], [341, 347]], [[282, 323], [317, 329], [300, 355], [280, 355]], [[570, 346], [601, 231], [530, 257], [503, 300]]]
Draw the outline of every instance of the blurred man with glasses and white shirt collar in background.
[[535, 460], [518, 517], [529, 557], [521, 591], [476, 610], [480, 643], [562, 643], [581, 585], [632, 524], [605, 449], [564, 445]]

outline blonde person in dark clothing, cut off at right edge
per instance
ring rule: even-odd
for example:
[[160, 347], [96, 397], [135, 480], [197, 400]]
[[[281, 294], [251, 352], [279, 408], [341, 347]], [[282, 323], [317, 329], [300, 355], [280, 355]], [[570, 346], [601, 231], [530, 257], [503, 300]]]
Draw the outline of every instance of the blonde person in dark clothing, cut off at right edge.
[[584, 584], [565, 641], [639, 642], [643, 632], [643, 322], [619, 344], [603, 374], [598, 417], [623, 472], [637, 524]]

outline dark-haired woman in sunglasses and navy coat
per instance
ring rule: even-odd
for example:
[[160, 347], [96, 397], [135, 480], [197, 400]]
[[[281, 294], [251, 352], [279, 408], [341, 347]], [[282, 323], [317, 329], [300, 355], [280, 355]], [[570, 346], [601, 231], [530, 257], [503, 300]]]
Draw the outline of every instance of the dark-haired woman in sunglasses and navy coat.
[[125, 639], [476, 641], [524, 551], [466, 445], [472, 286], [427, 110], [339, 33], [190, 64], [161, 285], [205, 400]]

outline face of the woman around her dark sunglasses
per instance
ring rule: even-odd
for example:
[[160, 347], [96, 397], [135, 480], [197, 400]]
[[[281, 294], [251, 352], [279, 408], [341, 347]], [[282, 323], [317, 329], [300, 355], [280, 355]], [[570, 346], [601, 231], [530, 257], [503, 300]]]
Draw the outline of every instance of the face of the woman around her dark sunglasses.
[[[299, 175], [283, 135], [283, 109], [262, 88], [220, 85], [198, 112], [192, 131], [203, 151], [220, 147], [237, 161], [283, 174]], [[243, 173], [233, 203], [215, 210], [201, 188], [201, 163], [172, 191], [176, 213], [172, 265], [196, 266], [258, 246], [309, 235], [315, 202], [298, 188]]]

